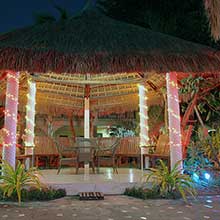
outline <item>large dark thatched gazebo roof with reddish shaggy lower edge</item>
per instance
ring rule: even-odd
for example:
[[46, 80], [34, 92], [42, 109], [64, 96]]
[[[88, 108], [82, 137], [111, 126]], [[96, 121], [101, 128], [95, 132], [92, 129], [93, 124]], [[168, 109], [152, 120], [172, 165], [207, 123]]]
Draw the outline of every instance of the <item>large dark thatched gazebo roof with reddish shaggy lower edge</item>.
[[0, 35], [0, 70], [39, 73], [215, 72], [220, 53], [96, 10]]

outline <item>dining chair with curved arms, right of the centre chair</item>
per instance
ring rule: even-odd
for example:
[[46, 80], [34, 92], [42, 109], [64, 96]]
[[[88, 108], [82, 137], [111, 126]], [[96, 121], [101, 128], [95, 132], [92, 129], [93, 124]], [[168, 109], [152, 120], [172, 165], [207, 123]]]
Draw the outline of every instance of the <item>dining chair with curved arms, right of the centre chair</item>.
[[116, 138], [116, 140], [106, 146], [103, 142], [101, 143], [101, 146], [99, 146], [99, 149], [96, 152], [96, 160], [97, 160], [97, 170], [99, 172], [100, 168], [100, 161], [105, 160], [105, 161], [111, 161], [112, 162], [112, 167], [113, 167], [113, 173], [118, 174], [117, 166], [118, 166], [118, 158], [116, 155], [116, 151], [118, 147], [120, 146], [120, 138]]

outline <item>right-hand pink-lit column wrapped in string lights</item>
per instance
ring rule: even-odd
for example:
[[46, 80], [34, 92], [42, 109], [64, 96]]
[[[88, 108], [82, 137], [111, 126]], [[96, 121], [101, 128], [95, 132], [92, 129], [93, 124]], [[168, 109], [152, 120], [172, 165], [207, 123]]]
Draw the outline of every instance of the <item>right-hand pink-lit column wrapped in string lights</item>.
[[181, 161], [179, 169], [183, 168], [183, 155], [181, 143], [181, 120], [179, 107], [179, 94], [177, 85], [177, 73], [171, 72], [166, 74], [167, 84], [167, 102], [169, 118], [169, 140], [170, 140], [170, 161], [171, 169], [176, 162]]

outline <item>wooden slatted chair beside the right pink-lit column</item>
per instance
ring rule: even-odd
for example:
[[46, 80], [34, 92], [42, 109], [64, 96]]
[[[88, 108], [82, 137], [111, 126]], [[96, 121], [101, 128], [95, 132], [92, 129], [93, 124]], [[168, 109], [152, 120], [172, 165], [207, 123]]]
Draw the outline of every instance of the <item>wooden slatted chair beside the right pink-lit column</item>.
[[167, 160], [168, 166], [170, 166], [170, 146], [169, 146], [169, 136], [167, 134], [161, 134], [158, 138], [156, 149], [153, 153], [144, 154], [144, 158], [149, 157], [151, 166], [156, 166], [156, 161], [158, 159]]

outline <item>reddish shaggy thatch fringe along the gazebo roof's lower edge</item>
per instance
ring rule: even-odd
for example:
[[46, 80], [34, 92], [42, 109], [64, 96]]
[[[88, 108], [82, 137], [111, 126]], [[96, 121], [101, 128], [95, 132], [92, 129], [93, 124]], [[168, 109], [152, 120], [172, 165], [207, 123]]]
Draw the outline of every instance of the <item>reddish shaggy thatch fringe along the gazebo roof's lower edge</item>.
[[62, 54], [55, 51], [39, 52], [25, 49], [0, 49], [0, 69], [38, 73], [124, 73], [168, 71], [211, 73], [220, 72], [220, 54]]

